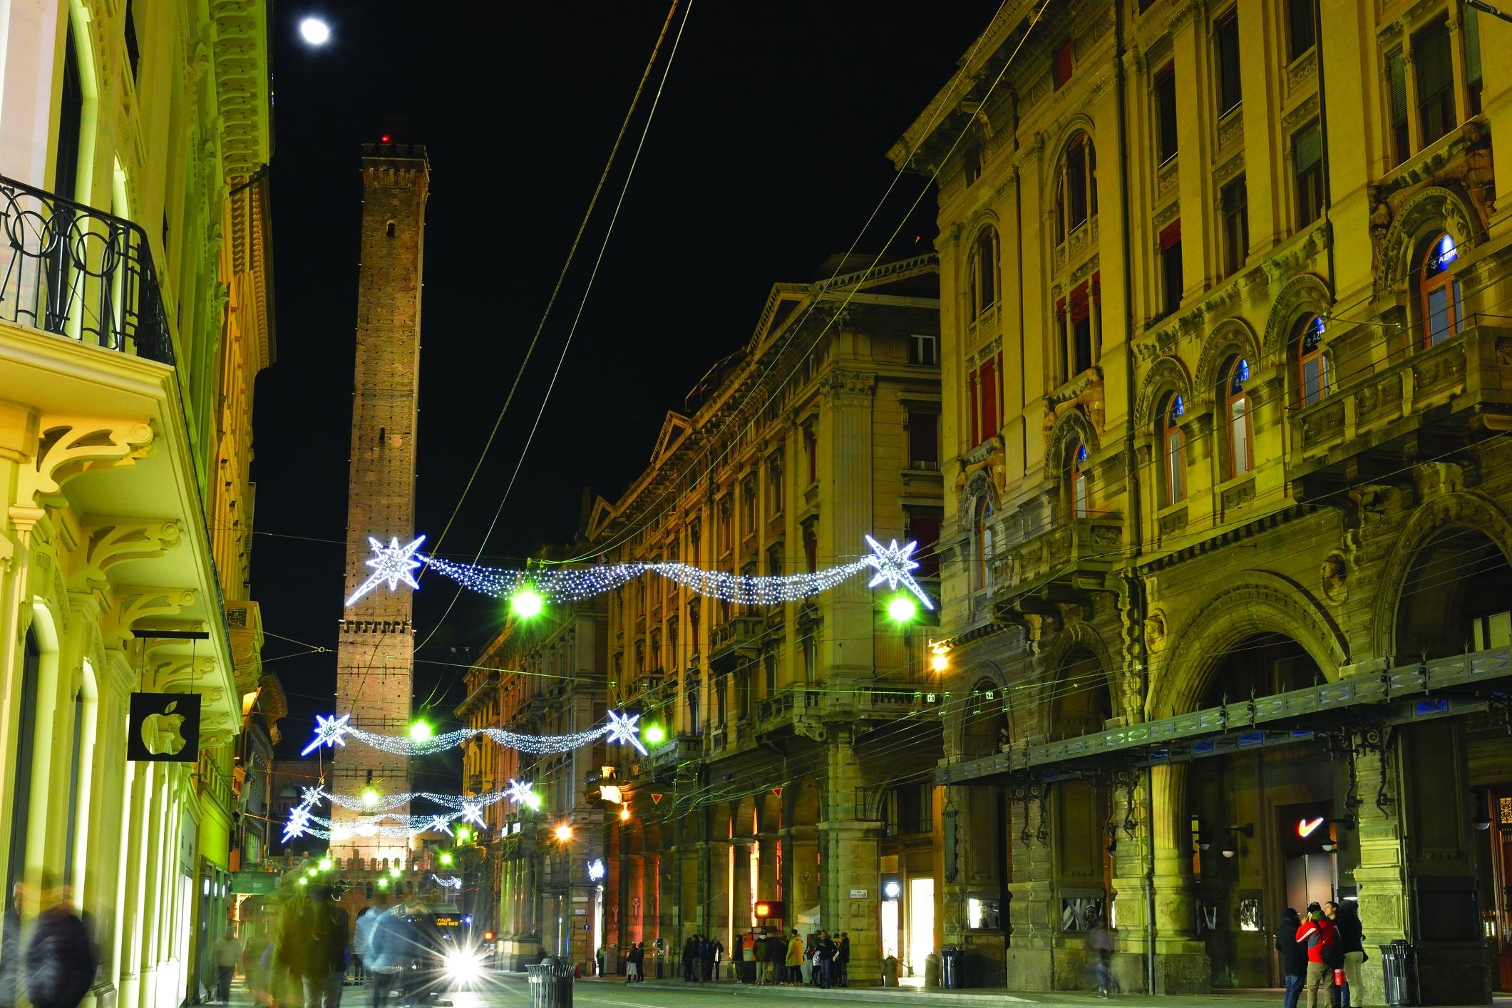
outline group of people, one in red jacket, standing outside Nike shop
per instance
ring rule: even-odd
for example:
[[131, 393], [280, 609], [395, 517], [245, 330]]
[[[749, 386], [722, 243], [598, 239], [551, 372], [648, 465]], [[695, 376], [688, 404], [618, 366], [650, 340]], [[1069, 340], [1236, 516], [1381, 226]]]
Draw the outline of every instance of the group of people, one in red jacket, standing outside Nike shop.
[[[1291, 907], [1281, 911], [1276, 952], [1287, 979], [1284, 1008], [1297, 1008], [1306, 991], [1308, 1008], [1350, 1008], [1350, 988], [1359, 994], [1359, 967], [1365, 955], [1359, 916], [1349, 904], [1308, 904], [1302, 917]], [[1329, 990], [1329, 994], [1323, 991]], [[1358, 1000], [1355, 1008], [1358, 1008]]]

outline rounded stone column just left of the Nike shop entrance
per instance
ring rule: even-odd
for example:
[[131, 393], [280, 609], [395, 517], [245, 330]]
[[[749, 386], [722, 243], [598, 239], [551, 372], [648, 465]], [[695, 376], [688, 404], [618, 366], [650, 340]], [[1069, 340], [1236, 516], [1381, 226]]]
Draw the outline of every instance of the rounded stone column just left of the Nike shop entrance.
[[1213, 966], [1198, 938], [1185, 765], [1151, 768], [1155, 866], [1155, 993], [1207, 993]]

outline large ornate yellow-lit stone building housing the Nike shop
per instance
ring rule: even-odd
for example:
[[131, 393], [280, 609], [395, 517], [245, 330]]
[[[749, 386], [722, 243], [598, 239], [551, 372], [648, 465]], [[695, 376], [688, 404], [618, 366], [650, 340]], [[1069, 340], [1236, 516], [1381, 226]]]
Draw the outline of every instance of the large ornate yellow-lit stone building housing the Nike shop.
[[[940, 183], [940, 940], [1276, 985], [1284, 907], [1512, 984], [1512, 26], [1010, 2]], [[1483, 59], [1482, 54], [1486, 54]], [[1494, 827], [1494, 828], [1492, 828]], [[1489, 969], [1488, 969], [1489, 964]]]

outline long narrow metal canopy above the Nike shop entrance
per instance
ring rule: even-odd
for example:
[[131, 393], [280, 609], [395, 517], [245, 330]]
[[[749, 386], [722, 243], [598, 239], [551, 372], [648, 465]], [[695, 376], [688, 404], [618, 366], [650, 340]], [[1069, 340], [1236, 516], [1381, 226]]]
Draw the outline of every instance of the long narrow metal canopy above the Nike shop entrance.
[[995, 756], [942, 766], [934, 771], [934, 783], [1072, 778], [1110, 766], [1152, 766], [1282, 745], [1343, 727], [1474, 713], [1485, 710], [1488, 703], [1509, 709], [1509, 677], [1512, 648], [1456, 654], [1075, 739], [1012, 747]]

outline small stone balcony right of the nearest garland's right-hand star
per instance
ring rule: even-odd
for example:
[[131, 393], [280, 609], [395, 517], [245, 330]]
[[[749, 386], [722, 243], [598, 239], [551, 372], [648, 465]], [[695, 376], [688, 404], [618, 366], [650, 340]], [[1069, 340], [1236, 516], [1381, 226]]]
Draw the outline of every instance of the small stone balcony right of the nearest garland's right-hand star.
[[1107, 588], [1107, 573], [1123, 550], [1117, 514], [1072, 518], [1024, 540], [992, 562], [992, 611], [1002, 623], [1025, 615], [1060, 615], [1061, 603], [1087, 603], [1087, 592]]

